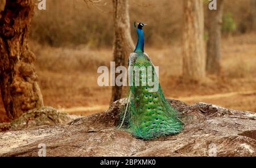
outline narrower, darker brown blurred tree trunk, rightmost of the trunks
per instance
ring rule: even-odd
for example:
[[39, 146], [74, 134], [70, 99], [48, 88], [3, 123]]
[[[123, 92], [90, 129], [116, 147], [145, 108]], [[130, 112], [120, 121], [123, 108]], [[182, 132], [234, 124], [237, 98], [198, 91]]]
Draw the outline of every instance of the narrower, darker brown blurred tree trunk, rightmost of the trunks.
[[224, 1], [217, 1], [217, 10], [208, 10], [209, 39], [207, 42], [206, 70], [209, 74], [220, 74], [221, 24]]

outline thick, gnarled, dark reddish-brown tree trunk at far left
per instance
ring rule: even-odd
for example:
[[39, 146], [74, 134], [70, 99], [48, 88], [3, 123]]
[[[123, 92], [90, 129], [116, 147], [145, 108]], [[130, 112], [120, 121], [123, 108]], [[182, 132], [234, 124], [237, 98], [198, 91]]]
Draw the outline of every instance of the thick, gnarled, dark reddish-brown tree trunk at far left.
[[43, 106], [35, 73], [35, 55], [27, 38], [34, 14], [34, 1], [6, 1], [0, 19], [0, 88], [10, 119]]

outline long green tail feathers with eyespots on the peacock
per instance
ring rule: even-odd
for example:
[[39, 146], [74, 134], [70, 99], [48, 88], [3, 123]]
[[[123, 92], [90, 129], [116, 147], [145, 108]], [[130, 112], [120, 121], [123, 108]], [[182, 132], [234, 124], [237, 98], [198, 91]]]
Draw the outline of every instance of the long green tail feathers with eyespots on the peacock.
[[[133, 66], [147, 69], [151, 64], [144, 60], [136, 61]], [[156, 75], [154, 72], [154, 67], [152, 67], [152, 75], [140, 71], [139, 86], [135, 86], [134, 80], [133, 86], [130, 86], [130, 96], [126, 99], [127, 106], [123, 108], [119, 116], [119, 127], [126, 128], [140, 139], [174, 135], [183, 129], [183, 123], [177, 118], [177, 111], [167, 102], [160, 84], [156, 92], [149, 92], [153, 86], [143, 86], [145, 79], [146, 81], [151, 80], [151, 77], [154, 79]]]

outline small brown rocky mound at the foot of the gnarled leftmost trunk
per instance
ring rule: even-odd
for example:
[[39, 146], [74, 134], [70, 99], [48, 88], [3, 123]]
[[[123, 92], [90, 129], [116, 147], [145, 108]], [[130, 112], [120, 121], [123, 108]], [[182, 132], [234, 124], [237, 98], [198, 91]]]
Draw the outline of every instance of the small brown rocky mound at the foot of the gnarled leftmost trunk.
[[11, 123], [1, 123], [0, 131], [14, 131], [38, 126], [53, 126], [55, 124], [71, 122], [71, 120], [75, 118], [77, 117], [61, 113], [53, 107], [42, 107], [23, 113], [18, 119], [13, 120]]

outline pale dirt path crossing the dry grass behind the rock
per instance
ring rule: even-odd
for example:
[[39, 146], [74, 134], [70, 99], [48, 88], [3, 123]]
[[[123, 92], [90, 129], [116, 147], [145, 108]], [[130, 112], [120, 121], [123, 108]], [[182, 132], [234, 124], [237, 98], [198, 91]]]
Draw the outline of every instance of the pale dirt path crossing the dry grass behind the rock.
[[[195, 100], [214, 100], [218, 98], [229, 98], [229, 97], [234, 97], [234, 96], [247, 96], [251, 94], [256, 94], [256, 91], [240, 91], [240, 92], [229, 92], [229, 93], [221, 93], [221, 94], [210, 94], [210, 95], [198, 95], [198, 96], [189, 96], [189, 97], [178, 97], [175, 98], [177, 100], [181, 100], [184, 102], [189, 102], [189, 101], [195, 101]], [[173, 97], [170, 97], [173, 98]], [[65, 113], [69, 114], [76, 114], [76, 115], [91, 115], [94, 113], [97, 113], [99, 111], [104, 111], [108, 109], [109, 105], [97, 105], [97, 106], [80, 106], [80, 107], [72, 107], [72, 108], [63, 108], [59, 109], [60, 111], [63, 111]]]

